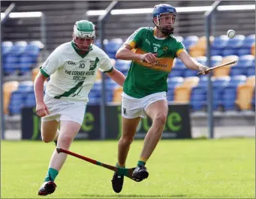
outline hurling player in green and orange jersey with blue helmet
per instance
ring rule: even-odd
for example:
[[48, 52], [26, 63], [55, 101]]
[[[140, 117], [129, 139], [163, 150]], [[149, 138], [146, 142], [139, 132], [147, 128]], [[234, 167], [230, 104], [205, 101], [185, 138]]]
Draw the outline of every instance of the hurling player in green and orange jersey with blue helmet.
[[[205, 74], [208, 68], [198, 63], [173, 37], [176, 8], [170, 4], [158, 4], [153, 9], [154, 28], [139, 28], [116, 52], [116, 58], [132, 60], [122, 93], [122, 137], [118, 144], [117, 166], [125, 167], [125, 160], [134, 139], [141, 117], [152, 119], [152, 126], [144, 139], [143, 150], [133, 173], [134, 180], [149, 176], [146, 161], [161, 138], [167, 118], [167, 76], [171, 73], [174, 58], [179, 58], [185, 67]], [[116, 172], [112, 186], [117, 193], [122, 191], [124, 177]]]

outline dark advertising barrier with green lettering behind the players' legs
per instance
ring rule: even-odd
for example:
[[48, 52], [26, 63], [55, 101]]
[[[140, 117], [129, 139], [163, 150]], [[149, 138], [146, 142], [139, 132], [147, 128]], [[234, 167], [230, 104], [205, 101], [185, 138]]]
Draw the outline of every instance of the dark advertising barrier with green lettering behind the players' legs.
[[[185, 104], [168, 105], [169, 112], [164, 126], [163, 139], [191, 138], [191, 120], [189, 106]], [[101, 108], [100, 105], [88, 105], [86, 114], [75, 139], [98, 140], [101, 138]], [[41, 119], [35, 108], [22, 110], [22, 139], [41, 140]], [[145, 137], [152, 121], [143, 118], [135, 134], [136, 139]], [[120, 105], [106, 106], [106, 139], [118, 139], [122, 134], [122, 116]]]

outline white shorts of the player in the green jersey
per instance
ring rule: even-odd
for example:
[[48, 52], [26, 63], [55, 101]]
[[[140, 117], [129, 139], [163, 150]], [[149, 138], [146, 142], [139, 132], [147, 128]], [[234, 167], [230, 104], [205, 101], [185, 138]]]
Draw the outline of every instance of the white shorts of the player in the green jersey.
[[152, 104], [153, 102], [159, 100], [167, 101], [167, 93], [160, 92], [148, 95], [143, 98], [134, 98], [128, 96], [124, 92], [122, 93], [122, 117], [127, 119], [132, 119], [135, 117], [143, 117], [146, 118], [146, 108]]

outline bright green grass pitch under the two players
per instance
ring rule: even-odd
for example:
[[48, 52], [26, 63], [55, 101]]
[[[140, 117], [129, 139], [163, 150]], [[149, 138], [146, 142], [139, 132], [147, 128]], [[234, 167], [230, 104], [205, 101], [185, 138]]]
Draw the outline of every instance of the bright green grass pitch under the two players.
[[[134, 167], [143, 141], [134, 141], [127, 167]], [[1, 197], [42, 198], [53, 143], [2, 141]], [[117, 141], [74, 141], [71, 151], [116, 164]], [[146, 164], [149, 178], [125, 178], [112, 190], [113, 172], [68, 156], [56, 178], [56, 192], [44, 198], [255, 198], [254, 138], [162, 140]]]

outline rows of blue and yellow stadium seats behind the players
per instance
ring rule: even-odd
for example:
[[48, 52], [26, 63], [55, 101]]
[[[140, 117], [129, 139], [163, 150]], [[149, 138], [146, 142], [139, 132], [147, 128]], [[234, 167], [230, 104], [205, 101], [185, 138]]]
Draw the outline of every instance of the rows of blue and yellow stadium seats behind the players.
[[[196, 58], [198, 62], [207, 64], [206, 58], [206, 37], [195, 35], [188, 37], [176, 36], [182, 41], [188, 53]], [[226, 35], [211, 37], [211, 66], [224, 64], [227, 61], [237, 60], [236, 64], [221, 67], [212, 72], [212, 86], [214, 94], [214, 108], [223, 108], [224, 111], [240, 109], [250, 109], [254, 107], [255, 76], [255, 35], [236, 35], [232, 39]], [[131, 61], [124, 61], [115, 58], [116, 51], [122, 46], [124, 40], [116, 38], [104, 40], [105, 51], [111, 58], [113, 67], [120, 70], [125, 76], [131, 66]], [[95, 41], [96, 46], [100, 46], [99, 40]], [[32, 82], [39, 72], [38, 55], [44, 48], [41, 41], [4, 41], [2, 42], [2, 61], [5, 75], [32, 73], [32, 81], [29, 82], [6, 82], [13, 85], [6, 92], [5, 89], [5, 114], [20, 114], [23, 106], [35, 106], [35, 94]], [[196, 70], [189, 70], [179, 58], [173, 61], [173, 68], [168, 75], [167, 97], [169, 101], [189, 102], [193, 111], [200, 111], [206, 107], [207, 76], [197, 76]], [[89, 93], [89, 104], [99, 104], [101, 102], [101, 76], [98, 71], [97, 82]], [[188, 83], [188, 79], [191, 82]], [[192, 80], [193, 79], [193, 80]], [[251, 83], [250, 83], [251, 82]], [[105, 79], [107, 102], [121, 102], [122, 87], [113, 82], [108, 76]]]

